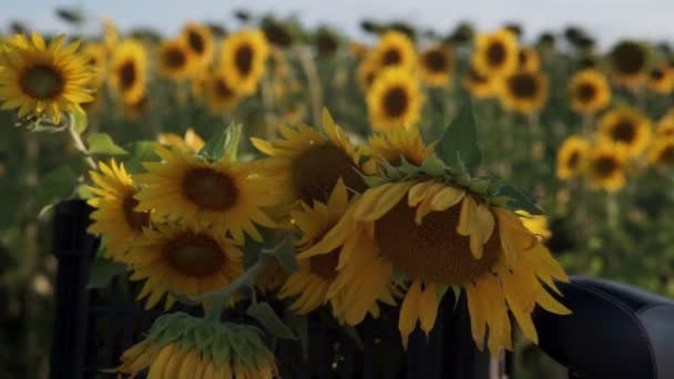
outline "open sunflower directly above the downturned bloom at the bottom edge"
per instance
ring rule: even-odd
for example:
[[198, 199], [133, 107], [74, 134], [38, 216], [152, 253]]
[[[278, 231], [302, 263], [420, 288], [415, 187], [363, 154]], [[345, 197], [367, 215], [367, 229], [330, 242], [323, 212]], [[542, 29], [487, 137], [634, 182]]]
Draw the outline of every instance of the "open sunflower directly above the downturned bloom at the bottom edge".
[[176, 223], [145, 228], [120, 262], [133, 272], [131, 280], [143, 280], [139, 299], [153, 308], [166, 295], [166, 308], [175, 298], [171, 291], [200, 296], [224, 288], [241, 275], [242, 253], [234, 240], [217, 228]]

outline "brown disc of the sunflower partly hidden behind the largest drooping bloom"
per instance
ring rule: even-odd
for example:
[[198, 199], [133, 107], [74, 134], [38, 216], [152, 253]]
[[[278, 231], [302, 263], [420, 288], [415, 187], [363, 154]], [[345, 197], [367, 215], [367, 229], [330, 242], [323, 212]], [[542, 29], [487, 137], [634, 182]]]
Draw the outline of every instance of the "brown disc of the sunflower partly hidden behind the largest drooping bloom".
[[348, 154], [330, 143], [312, 146], [295, 158], [292, 176], [295, 193], [307, 204], [325, 203], [339, 177], [349, 188], [360, 192], [366, 187]]

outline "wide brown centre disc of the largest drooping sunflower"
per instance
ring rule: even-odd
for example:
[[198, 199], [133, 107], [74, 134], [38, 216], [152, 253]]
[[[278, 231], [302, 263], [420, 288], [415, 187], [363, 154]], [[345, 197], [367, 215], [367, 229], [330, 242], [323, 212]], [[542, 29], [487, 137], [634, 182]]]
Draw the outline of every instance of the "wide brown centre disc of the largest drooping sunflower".
[[415, 279], [461, 285], [483, 275], [499, 255], [498, 229], [493, 231], [478, 260], [470, 253], [469, 238], [457, 234], [460, 211], [460, 206], [453, 206], [431, 212], [417, 225], [416, 208], [402, 199], [375, 224], [381, 254]]

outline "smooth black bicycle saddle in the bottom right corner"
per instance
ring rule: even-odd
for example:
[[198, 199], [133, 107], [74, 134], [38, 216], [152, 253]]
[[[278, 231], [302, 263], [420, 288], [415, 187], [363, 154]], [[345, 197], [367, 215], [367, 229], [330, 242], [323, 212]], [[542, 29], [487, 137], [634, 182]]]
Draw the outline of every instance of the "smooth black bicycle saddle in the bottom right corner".
[[558, 286], [573, 314], [537, 309], [534, 322], [572, 378], [674, 379], [674, 300], [585, 277]]

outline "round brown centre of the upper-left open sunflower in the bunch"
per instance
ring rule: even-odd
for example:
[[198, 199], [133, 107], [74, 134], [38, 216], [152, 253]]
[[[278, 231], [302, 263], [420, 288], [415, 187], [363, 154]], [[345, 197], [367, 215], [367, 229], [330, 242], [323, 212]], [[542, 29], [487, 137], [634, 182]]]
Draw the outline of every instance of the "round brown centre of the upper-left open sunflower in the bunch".
[[182, 184], [183, 195], [208, 211], [227, 209], [238, 199], [234, 180], [213, 168], [192, 168], [183, 177]]

